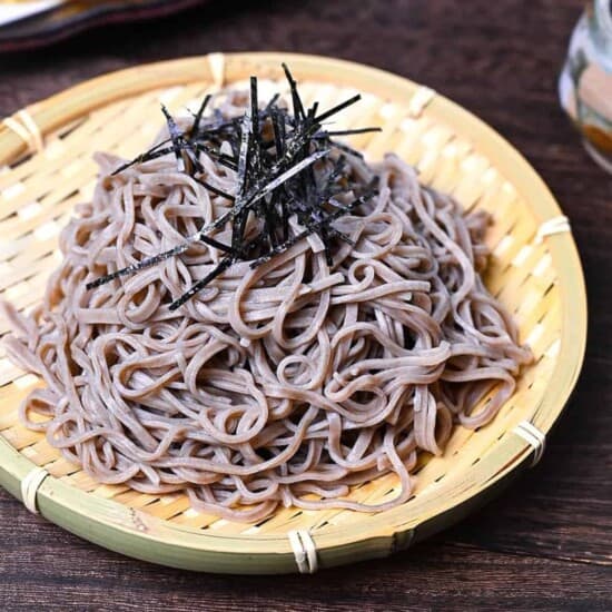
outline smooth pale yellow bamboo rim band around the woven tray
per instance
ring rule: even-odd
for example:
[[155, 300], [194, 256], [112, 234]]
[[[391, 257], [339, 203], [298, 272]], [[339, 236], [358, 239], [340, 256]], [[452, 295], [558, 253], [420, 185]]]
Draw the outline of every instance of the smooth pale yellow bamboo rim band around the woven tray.
[[[292, 65], [296, 75], [302, 79], [312, 78], [313, 80], [326, 80], [335, 85], [345, 83], [351, 86], [355, 86], [355, 80], [359, 83], [371, 81], [377, 86], [383, 85], [384, 97], [388, 99], [405, 99], [407, 102], [407, 96], [414, 93], [418, 88], [416, 83], [408, 79], [376, 68], [318, 56], [257, 52], [225, 53], [224, 58], [226, 75], [228, 75], [229, 80], [238, 80], [234, 78], [238, 73], [243, 77], [248, 76], [248, 70], [255, 69], [255, 67], [277, 70], [280, 61], [284, 60]], [[323, 72], [325, 78], [320, 78], [319, 72]], [[333, 75], [333, 78], [330, 75]], [[214, 78], [206, 56], [148, 63], [83, 81], [36, 102], [26, 110], [45, 136], [88, 111], [113, 101], [144, 93], [154, 88], [186, 85]], [[96, 103], [91, 103], [91, 91], [97, 92]], [[68, 112], [66, 111], [67, 103]], [[58, 112], [58, 108], [65, 109], [63, 115]], [[541, 223], [561, 214], [559, 205], [535, 170], [510, 142], [490, 126], [441, 95], [433, 98], [426, 112], [434, 119], [444, 120], [453, 126], [460, 125], [462, 136], [477, 140], [478, 151], [488, 159], [494, 160], [496, 167], [503, 167], [506, 180], [516, 188], [519, 195], [529, 199], [533, 214]], [[16, 160], [26, 149], [24, 141], [14, 131], [6, 126], [0, 127], [0, 164]], [[582, 366], [586, 342], [584, 278], [571, 233], [550, 237], [547, 248], [559, 275], [560, 302], [563, 310], [560, 357], [551, 376], [551, 381], [556, 381], [559, 384], [550, 385], [542, 402], [533, 407], [532, 423], [543, 433], [550, 431], [572, 392]], [[395, 549], [397, 547], [395, 541], [397, 534], [412, 530], [409, 536], [412, 539], [414, 529], [417, 525], [430, 522], [435, 523], [436, 517], [452, 515], [453, 510], [458, 511], [462, 504], [478, 499], [478, 496], [486, 493], [486, 490], [495, 490], [497, 485], [505, 483], [510, 476], [515, 476], [519, 471], [526, 467], [530, 456], [529, 451], [531, 451], [531, 447], [523, 440], [516, 436], [505, 436], [505, 440], [501, 441], [493, 451], [494, 454], [499, 455], [499, 461], [495, 463], [493, 471], [484, 461], [470, 468], [473, 474], [485, 475], [485, 477], [480, 478], [482, 484], [478, 487], [466, 488], [457, 496], [448, 495], [443, 499], [441, 495], [440, 505], [434, 513], [415, 513], [414, 507], [417, 505], [415, 502], [411, 506], [409, 517], [406, 516], [405, 506], [399, 506], [376, 515], [368, 515], [367, 525], [365, 522], [359, 522], [358, 524], [352, 524], [348, 529], [333, 526], [317, 531], [314, 533], [317, 551], [325, 559], [326, 551], [348, 546], [353, 552], [348, 551], [346, 553], [345, 551], [343, 554], [354, 554], [355, 545], [357, 547], [364, 545], [367, 549], [367, 542], [376, 539], [384, 539], [385, 546], [391, 539], [389, 546]], [[521, 455], [519, 461], [506, 464], [500, 461], [502, 457], [517, 455]], [[21, 497], [19, 493], [20, 482], [34, 467], [33, 462], [0, 436], [0, 484], [4, 485], [16, 496]], [[146, 515], [140, 511], [130, 510], [118, 502], [95, 497], [90, 493], [80, 491], [53, 477], [47, 477], [40, 486], [38, 505], [42, 515], [51, 521], [92, 541], [98, 541], [107, 547], [108, 544], [105, 544], [103, 537], [97, 535], [95, 529], [90, 530], [91, 533], [83, 534], [83, 530], [75, 525], [70, 516], [67, 515], [72, 513], [89, 519], [92, 524], [98, 525], [99, 531], [101, 530], [100, 533], [110, 530], [121, 532], [140, 543], [155, 542], [169, 546], [172, 551], [166, 555], [164, 562], [170, 565], [185, 566], [180, 561], [175, 560], [172, 562], [172, 554], [176, 554], [174, 547], [177, 547], [179, 550], [190, 549], [198, 554], [227, 554], [230, 559], [244, 553], [256, 556], [269, 554], [275, 556], [272, 562], [274, 571], [290, 571], [289, 567], [295, 571], [292, 547], [287, 539], [280, 535], [236, 534], [228, 536], [225, 534], [218, 535], [211, 531], [203, 532], [195, 527], [175, 525]], [[452, 516], [447, 516], [448, 519], [452, 520]], [[145, 530], [138, 527], [139, 522], [142, 521], [145, 521], [147, 527]], [[155, 526], [155, 533], [150, 533], [148, 526]], [[435, 530], [437, 526], [433, 525], [432, 529]], [[87, 532], [87, 530], [85, 531]], [[404, 546], [401, 545], [399, 547]], [[379, 555], [376, 554], [377, 552], [379, 553], [377, 550], [372, 550], [365, 556]], [[132, 555], [139, 556], [138, 554]], [[146, 553], [141, 553], [140, 556], [147, 559]], [[334, 564], [335, 557], [330, 557], [330, 561], [329, 564]], [[210, 560], [200, 563], [207, 570], [214, 571], [209, 564]]]

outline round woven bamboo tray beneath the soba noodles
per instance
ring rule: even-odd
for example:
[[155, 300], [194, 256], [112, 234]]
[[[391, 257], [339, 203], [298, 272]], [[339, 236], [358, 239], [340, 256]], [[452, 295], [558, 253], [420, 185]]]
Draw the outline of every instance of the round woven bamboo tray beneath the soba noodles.
[[[215, 53], [140, 66], [78, 85], [4, 120], [0, 297], [20, 308], [41, 298], [58, 264], [58, 231], [73, 205], [91, 197], [95, 150], [132, 157], [159, 129], [160, 101], [179, 111], [249, 75], [276, 81], [282, 61], [290, 65], [304, 96], [324, 107], [356, 90], [364, 95], [343, 121], [384, 128], [352, 139], [369, 158], [394, 150], [417, 166], [424, 182], [452, 193], [467, 209], [492, 213], [486, 283], [516, 317], [535, 362], [490, 425], [456, 427], [443, 456], [421, 458], [414, 496], [404, 505], [373, 514], [283, 509], [248, 525], [197, 513], [181, 494], [145, 495], [91, 480], [42, 434], [18, 422], [19, 403], [40, 382], [0, 354], [0, 484], [19, 499], [33, 494], [33, 502], [24, 501], [49, 521], [138, 559], [210, 572], [286, 573], [406, 549], [458, 521], [539, 458], [539, 433], [545, 435], [560, 415], [582, 364], [586, 304], [580, 259], [559, 206], [521, 155], [426, 87], [312, 56]], [[0, 320], [0, 333], [7, 330]], [[379, 503], [397, 487], [389, 475], [352, 496]]]

